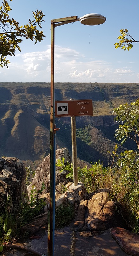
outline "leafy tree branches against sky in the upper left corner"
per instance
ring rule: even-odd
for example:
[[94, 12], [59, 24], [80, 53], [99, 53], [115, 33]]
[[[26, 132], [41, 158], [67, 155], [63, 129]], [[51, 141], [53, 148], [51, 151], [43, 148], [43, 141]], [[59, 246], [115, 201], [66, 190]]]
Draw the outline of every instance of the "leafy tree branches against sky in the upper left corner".
[[[12, 0], [10, 0], [12, 1]], [[41, 27], [41, 22], [45, 16], [41, 11], [33, 12], [33, 20], [29, 19], [29, 24], [19, 27], [19, 22], [10, 19], [9, 12], [11, 8], [6, 0], [3, 1], [3, 5], [0, 6], [0, 66], [6, 66], [8, 68], [9, 60], [6, 60], [7, 55], [15, 56], [14, 52], [16, 48], [21, 52], [19, 43], [22, 42], [22, 37], [35, 41], [35, 44], [41, 40], [45, 35], [43, 31], [39, 31], [37, 28]]]

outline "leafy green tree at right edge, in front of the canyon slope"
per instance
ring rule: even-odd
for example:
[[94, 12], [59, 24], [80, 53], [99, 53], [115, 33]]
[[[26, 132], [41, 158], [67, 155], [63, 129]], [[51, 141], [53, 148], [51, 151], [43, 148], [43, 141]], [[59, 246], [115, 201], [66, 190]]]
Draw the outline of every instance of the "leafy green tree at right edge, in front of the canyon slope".
[[117, 140], [122, 140], [121, 145], [130, 138], [136, 141], [137, 147], [139, 149], [139, 99], [135, 102], [131, 102], [129, 105], [125, 103], [115, 108], [113, 113], [117, 115], [115, 117], [116, 121], [122, 123], [119, 128], [115, 131], [114, 136]]

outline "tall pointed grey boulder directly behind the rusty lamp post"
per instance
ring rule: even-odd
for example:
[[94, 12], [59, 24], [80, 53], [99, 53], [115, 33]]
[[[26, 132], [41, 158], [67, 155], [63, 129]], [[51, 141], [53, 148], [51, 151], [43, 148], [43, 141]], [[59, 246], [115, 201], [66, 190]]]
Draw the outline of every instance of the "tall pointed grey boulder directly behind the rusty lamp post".
[[[62, 159], [62, 157], [65, 158], [65, 164], [67, 161], [70, 162], [70, 156], [67, 148], [56, 150], [56, 160]], [[64, 182], [66, 180], [66, 175], [68, 173], [68, 171], [60, 172], [59, 169], [59, 167], [56, 168], [56, 186], [60, 182]], [[44, 190], [42, 194], [45, 194], [50, 191], [50, 154], [45, 157], [43, 162], [39, 164], [38, 168], [36, 169], [32, 183], [27, 188], [28, 195], [31, 193], [32, 185], [34, 185], [38, 191], [42, 188], [43, 182], [45, 184], [46, 190]]]

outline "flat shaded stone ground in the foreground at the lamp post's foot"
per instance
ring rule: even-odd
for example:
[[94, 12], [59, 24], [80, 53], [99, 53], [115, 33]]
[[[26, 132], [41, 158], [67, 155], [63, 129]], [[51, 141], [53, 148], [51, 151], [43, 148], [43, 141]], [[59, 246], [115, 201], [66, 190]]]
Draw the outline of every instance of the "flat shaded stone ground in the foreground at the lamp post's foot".
[[[20, 244], [19, 244], [20, 245]], [[28, 239], [24, 242], [28, 246], [40, 253], [47, 254], [47, 232], [42, 238]], [[23, 250], [12, 250], [3, 253], [3, 256], [27, 256], [29, 254]], [[55, 231], [55, 256], [126, 256], [119, 244], [112, 238], [110, 230], [96, 236], [80, 236], [80, 232], [73, 232], [69, 228]], [[134, 254], [136, 255], [136, 254]]]

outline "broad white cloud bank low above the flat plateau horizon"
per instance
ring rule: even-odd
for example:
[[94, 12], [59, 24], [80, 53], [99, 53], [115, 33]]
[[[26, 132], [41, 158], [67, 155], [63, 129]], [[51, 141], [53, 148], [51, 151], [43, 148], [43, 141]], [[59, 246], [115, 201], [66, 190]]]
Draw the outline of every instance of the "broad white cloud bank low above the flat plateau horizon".
[[[1, 82], [50, 82], [50, 56], [50, 45], [45, 51], [17, 54], [10, 58], [9, 69], [1, 69]], [[55, 46], [56, 82], [134, 83], [137, 77], [139, 73], [125, 67], [125, 63], [122, 67], [122, 61], [87, 59], [74, 49]]]

